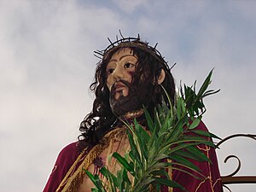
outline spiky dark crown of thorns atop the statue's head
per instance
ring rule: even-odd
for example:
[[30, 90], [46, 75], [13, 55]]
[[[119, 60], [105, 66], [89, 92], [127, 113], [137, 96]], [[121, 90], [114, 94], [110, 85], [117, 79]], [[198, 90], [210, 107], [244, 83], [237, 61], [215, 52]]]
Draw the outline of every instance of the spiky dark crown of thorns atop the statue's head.
[[116, 36], [116, 40], [112, 42], [110, 38], [108, 38], [109, 45], [106, 49], [96, 50], [94, 51], [94, 55], [99, 58], [101, 61], [104, 61], [108, 58], [110, 53], [114, 53], [117, 49], [120, 48], [136, 48], [136, 49], [143, 49], [144, 51], [148, 52], [150, 55], [153, 55], [160, 62], [164, 62], [168, 70], [171, 70], [175, 64], [169, 68], [167, 62], [165, 61], [164, 57], [160, 54], [159, 50], [156, 49], [157, 44], [154, 47], [148, 45], [148, 42], [143, 42], [138, 34], [137, 38], [124, 38], [122, 33], [120, 32], [120, 37]]

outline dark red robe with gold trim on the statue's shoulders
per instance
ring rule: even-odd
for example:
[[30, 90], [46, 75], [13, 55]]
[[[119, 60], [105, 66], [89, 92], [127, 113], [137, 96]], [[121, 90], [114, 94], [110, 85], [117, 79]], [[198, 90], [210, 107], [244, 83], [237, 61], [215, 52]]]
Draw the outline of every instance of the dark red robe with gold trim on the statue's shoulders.
[[[197, 128], [197, 130], [207, 131], [207, 127], [201, 123]], [[207, 157], [212, 160], [212, 164], [209, 162], [199, 162], [196, 160], [189, 160], [194, 163], [195, 166], [198, 166], [201, 170], [201, 173], [205, 176], [203, 179], [196, 179], [195, 177], [190, 176], [184, 172], [179, 172], [177, 170], [172, 170], [172, 180], [180, 183], [185, 189], [189, 192], [222, 192], [222, 183], [220, 179], [220, 174], [218, 171], [218, 160], [215, 153], [215, 148], [210, 148], [206, 145], [197, 146], [201, 149]], [[66, 191], [65, 185], [67, 187], [68, 179], [74, 175], [74, 172], [77, 172], [80, 168], [84, 158], [90, 152], [88, 149], [84, 151], [84, 153], [79, 153], [79, 149], [77, 147], [77, 143], [71, 143], [67, 145], [67, 147], [61, 150], [59, 154], [53, 171], [49, 176], [49, 180], [44, 187], [43, 192], [55, 192], [55, 191]], [[184, 169], [184, 168], [183, 168]], [[191, 171], [190, 171], [191, 172]], [[192, 172], [194, 175], [201, 177], [198, 173]], [[83, 178], [83, 176], [80, 176]], [[72, 178], [73, 179], [73, 178]], [[74, 183], [80, 184], [79, 178]], [[74, 183], [70, 185], [75, 185]], [[64, 190], [63, 190], [64, 189]], [[72, 190], [71, 190], [72, 191]], [[161, 191], [167, 192], [167, 187], [162, 187]], [[181, 192], [181, 189], [169, 189], [172, 192]]]

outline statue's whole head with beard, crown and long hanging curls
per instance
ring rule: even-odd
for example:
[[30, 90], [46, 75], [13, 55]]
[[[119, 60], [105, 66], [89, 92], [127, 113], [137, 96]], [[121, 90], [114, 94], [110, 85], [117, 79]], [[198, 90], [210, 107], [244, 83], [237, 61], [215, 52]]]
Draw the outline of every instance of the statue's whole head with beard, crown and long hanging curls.
[[100, 61], [90, 90], [95, 92], [96, 99], [91, 113], [80, 125], [80, 141], [97, 143], [119, 116], [127, 112], [144, 107], [153, 113], [163, 101], [170, 104], [166, 93], [173, 103], [174, 79], [156, 46], [139, 37], [121, 38], [110, 42], [106, 49], [95, 51], [95, 55]]

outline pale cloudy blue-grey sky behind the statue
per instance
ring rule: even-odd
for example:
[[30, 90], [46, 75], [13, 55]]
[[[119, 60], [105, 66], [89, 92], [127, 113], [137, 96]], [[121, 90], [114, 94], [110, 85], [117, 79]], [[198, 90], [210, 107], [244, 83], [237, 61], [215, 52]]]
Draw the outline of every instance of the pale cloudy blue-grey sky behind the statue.
[[[1, 191], [42, 191], [57, 154], [77, 141], [90, 113], [89, 90], [108, 38], [119, 30], [153, 45], [176, 84], [199, 87], [214, 68], [203, 121], [227, 137], [255, 134], [256, 2], [253, 0], [0, 0]], [[217, 150], [222, 175], [256, 175], [255, 141], [236, 138]], [[253, 192], [255, 184], [230, 185]]]

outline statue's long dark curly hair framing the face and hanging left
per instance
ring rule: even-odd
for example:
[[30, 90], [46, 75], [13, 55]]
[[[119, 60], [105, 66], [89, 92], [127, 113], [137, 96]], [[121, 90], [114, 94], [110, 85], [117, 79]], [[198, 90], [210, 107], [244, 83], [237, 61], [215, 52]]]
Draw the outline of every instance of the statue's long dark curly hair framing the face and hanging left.
[[[142, 42], [139, 38], [122, 38], [113, 44], [110, 44], [107, 49], [96, 51], [96, 54], [101, 55], [101, 61], [96, 67], [95, 80], [90, 84], [90, 90], [95, 93], [96, 99], [93, 102], [92, 111], [86, 115], [81, 122], [79, 131], [79, 147], [81, 149], [88, 145], [96, 145], [99, 143], [102, 136], [107, 133], [113, 124], [118, 120], [109, 105], [109, 90], [107, 87], [106, 67], [112, 55], [119, 49], [130, 48], [133, 54], [137, 56], [137, 69], [133, 75], [131, 85], [139, 84], [143, 74], [143, 83], [151, 84], [152, 89], [147, 93], [147, 102], [143, 106], [152, 113], [154, 107], [160, 104], [163, 100], [167, 101], [166, 93], [157, 82], [160, 72], [163, 69], [166, 73], [165, 80], [161, 85], [165, 88], [168, 96], [173, 103], [175, 96], [175, 84], [170, 68], [166, 61], [160, 55], [160, 52], [151, 47], [148, 43]], [[138, 90], [140, 91], [140, 90]]]

